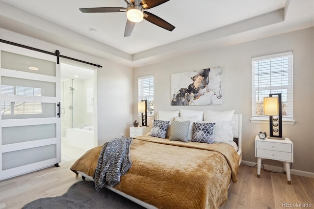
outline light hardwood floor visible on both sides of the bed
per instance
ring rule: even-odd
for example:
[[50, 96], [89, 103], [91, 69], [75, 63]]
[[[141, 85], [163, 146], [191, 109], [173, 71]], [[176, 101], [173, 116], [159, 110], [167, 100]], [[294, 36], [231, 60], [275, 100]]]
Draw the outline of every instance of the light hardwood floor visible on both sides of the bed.
[[[0, 208], [19, 209], [42, 197], [62, 195], [81, 178], [69, 169], [75, 159], [63, 160], [60, 167], [50, 167], [19, 177], [0, 181]], [[261, 171], [241, 165], [238, 183], [233, 183], [228, 201], [221, 209], [280, 209], [283, 203], [312, 204], [314, 208], [314, 179], [291, 175], [287, 184], [284, 174]]]

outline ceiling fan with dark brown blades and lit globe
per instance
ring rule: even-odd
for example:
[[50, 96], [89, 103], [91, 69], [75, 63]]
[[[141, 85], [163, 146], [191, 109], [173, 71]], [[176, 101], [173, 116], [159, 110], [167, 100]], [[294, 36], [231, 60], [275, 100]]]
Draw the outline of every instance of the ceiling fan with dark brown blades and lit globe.
[[162, 27], [166, 30], [172, 31], [175, 26], [166, 22], [165, 20], [157, 17], [156, 15], [144, 11], [144, 9], [150, 9], [158, 6], [168, 0], [125, 0], [127, 2], [127, 8], [124, 7], [96, 7], [96, 8], [80, 8], [81, 12], [95, 13], [95, 12], [127, 12], [127, 24], [124, 31], [124, 37], [130, 36], [135, 23], [141, 22], [143, 19]]

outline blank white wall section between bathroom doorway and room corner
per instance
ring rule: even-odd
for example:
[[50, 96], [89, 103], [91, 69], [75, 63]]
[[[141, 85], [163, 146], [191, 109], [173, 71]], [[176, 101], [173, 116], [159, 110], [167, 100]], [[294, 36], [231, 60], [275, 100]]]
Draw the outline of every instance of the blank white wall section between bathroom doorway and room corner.
[[[136, 100], [137, 101], [137, 100]], [[129, 136], [132, 122], [132, 70], [107, 62], [98, 71], [98, 144]]]

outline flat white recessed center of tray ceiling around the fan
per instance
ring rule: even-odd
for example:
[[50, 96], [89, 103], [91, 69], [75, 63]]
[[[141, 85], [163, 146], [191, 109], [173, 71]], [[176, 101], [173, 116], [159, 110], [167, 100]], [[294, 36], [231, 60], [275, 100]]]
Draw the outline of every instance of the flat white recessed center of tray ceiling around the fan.
[[[124, 37], [125, 12], [82, 13], [78, 8], [126, 7], [124, 0], [2, 0], [127, 53], [137, 53], [278, 10], [285, 0], [170, 0], [147, 11], [176, 28], [170, 32], [148, 21]], [[90, 31], [90, 29], [97, 31]]]

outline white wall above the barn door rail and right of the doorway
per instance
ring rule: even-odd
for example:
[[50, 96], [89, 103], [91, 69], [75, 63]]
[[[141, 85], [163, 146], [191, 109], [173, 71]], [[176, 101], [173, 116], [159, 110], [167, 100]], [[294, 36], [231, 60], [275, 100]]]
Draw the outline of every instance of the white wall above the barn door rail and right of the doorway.
[[[62, 55], [102, 65], [103, 68], [97, 69], [98, 113], [95, 120], [98, 120], [98, 129], [95, 131], [98, 134], [98, 144], [101, 145], [113, 137], [120, 137], [121, 133], [127, 135], [128, 127], [132, 124], [132, 69], [130, 67], [56, 46], [3, 28], [0, 28], [0, 39], [48, 52], [59, 50]], [[65, 59], [65, 61], [68, 60]]]

